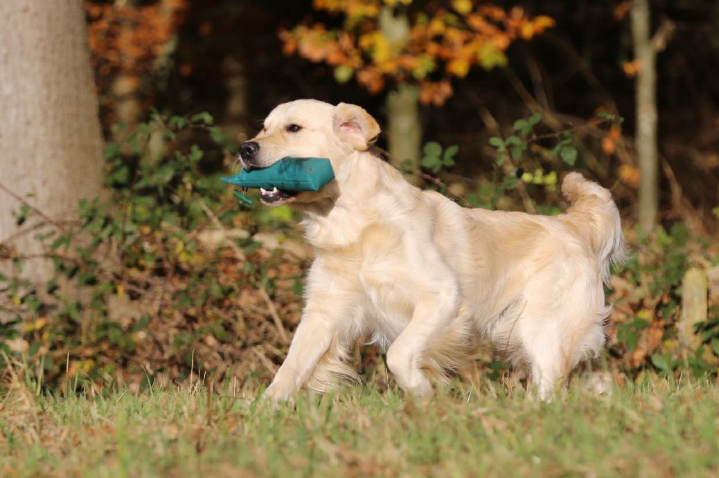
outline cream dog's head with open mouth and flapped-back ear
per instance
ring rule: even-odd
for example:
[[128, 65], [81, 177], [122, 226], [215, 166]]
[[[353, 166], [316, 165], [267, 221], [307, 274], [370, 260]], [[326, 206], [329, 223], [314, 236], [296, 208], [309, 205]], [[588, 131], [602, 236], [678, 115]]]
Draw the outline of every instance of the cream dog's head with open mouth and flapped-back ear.
[[[380, 134], [380, 126], [367, 111], [356, 105], [332, 106], [317, 100], [296, 100], [276, 107], [265, 119], [260, 133], [239, 146], [244, 169], [271, 166], [287, 156], [329, 158], [337, 177], [343, 162], [354, 151], [365, 151]], [[262, 202], [309, 203], [338, 195], [336, 182], [318, 192], [261, 192]]]

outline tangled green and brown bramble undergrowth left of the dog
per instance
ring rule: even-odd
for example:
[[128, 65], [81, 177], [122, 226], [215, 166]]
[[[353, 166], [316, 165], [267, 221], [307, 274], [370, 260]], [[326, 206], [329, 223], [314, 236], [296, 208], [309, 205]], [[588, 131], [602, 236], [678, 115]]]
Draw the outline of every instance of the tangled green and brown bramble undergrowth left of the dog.
[[[37, 287], [0, 277], [12, 317], [0, 323], [0, 350], [42, 362], [45, 383], [70, 388], [78, 381], [68, 377], [141, 383], [198, 368], [267, 370], [256, 346], [286, 346], [278, 328], [298, 320], [306, 258], [260, 248], [257, 217], [279, 228], [278, 243], [294, 233], [290, 217], [238, 207], [219, 181], [234, 159], [207, 113], [153, 113], [107, 144], [105, 159], [109, 198], [81, 202], [75, 223], [40, 238], [55, 278]], [[28, 215], [22, 207], [18, 221]], [[22, 268], [24, 258], [13, 260]]]

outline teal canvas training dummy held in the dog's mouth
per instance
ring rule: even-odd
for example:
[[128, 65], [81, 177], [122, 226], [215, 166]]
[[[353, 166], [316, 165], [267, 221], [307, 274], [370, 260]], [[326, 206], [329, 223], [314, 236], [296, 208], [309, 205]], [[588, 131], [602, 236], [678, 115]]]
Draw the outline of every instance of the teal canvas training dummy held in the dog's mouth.
[[[334, 179], [334, 170], [326, 158], [283, 158], [270, 167], [243, 169], [232, 177], [221, 179], [244, 189], [262, 189], [262, 200], [271, 204], [287, 200], [296, 192], [319, 191]], [[233, 194], [247, 205], [253, 204], [239, 191], [235, 190]]]

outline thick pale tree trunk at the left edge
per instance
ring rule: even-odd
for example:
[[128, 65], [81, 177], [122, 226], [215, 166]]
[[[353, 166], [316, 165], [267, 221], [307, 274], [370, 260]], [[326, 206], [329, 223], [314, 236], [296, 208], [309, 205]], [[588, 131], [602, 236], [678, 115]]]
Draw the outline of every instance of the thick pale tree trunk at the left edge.
[[[53, 220], [76, 217], [78, 200], [99, 195], [103, 169], [82, 0], [0, 1], [0, 111], [0, 183]], [[12, 215], [19, 207], [0, 191], [0, 243], [40, 253], [37, 229], [23, 231], [41, 220], [21, 230]], [[23, 276], [42, 281], [52, 272], [49, 261], [33, 260]]]

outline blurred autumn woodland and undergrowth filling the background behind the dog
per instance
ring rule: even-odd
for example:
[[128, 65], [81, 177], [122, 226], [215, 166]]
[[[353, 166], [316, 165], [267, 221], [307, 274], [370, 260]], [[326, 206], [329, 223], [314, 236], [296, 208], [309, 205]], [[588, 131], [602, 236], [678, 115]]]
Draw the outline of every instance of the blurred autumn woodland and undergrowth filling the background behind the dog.
[[[300, 317], [312, 253], [296, 213], [242, 209], [221, 175], [278, 103], [367, 108], [408, 179], [463, 205], [557, 214], [578, 169], [618, 202], [631, 258], [615, 271], [608, 350], [619, 383], [719, 365], [719, 3], [653, 1], [659, 214], [636, 227], [631, 1], [86, 0], [106, 197], [54, 222], [20, 200], [50, 280], [0, 258], [0, 364], [53, 388], [191, 374], [268, 383]], [[708, 277], [682, 337], [682, 279]], [[376, 350], [358, 349], [372, 380]], [[505, 365], [480, 350], [474, 371]], [[384, 374], [381, 375], [382, 382]], [[144, 384], [144, 385], [143, 385]]]

